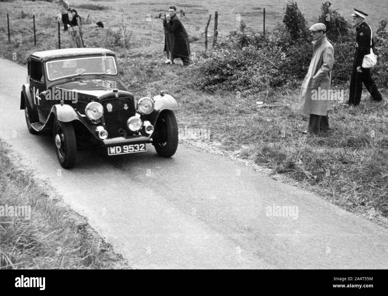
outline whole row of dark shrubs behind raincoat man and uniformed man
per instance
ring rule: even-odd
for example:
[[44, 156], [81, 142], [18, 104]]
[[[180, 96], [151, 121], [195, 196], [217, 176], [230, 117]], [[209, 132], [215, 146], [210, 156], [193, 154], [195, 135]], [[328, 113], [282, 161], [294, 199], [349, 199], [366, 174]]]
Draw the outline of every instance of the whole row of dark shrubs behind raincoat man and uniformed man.
[[[328, 1], [322, 3], [319, 20], [326, 24], [326, 36], [334, 47], [332, 85], [343, 85], [352, 71], [355, 34]], [[239, 31], [230, 32], [218, 47], [197, 59], [192, 84], [211, 92], [223, 89], [243, 93], [300, 87], [311, 61], [312, 38], [296, 2], [287, 3], [283, 22], [266, 35], [241, 22]], [[385, 34], [375, 40], [378, 65], [373, 71], [378, 74], [379, 87], [383, 87], [388, 83], [388, 42]]]

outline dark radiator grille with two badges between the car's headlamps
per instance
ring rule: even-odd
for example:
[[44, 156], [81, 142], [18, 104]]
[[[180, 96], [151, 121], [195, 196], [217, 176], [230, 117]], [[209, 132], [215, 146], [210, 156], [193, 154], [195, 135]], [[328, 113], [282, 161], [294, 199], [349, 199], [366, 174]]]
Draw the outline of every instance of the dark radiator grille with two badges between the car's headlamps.
[[[130, 97], [105, 99], [101, 100], [101, 104], [102, 107], [104, 107], [104, 121], [105, 128], [108, 132], [108, 138], [123, 137], [123, 130], [129, 133], [129, 130], [126, 127], [126, 121], [131, 116], [135, 116], [133, 99]], [[125, 107], [127, 109], [125, 109]]]

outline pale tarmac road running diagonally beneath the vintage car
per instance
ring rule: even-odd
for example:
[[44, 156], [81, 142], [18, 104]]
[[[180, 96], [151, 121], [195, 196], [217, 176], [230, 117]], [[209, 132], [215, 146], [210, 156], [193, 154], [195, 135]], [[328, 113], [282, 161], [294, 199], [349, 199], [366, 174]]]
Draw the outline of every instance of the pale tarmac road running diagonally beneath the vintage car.
[[189, 145], [170, 159], [152, 145], [79, 151], [62, 169], [52, 136], [28, 133], [19, 110], [27, 69], [4, 59], [0, 69], [0, 137], [133, 268], [387, 268], [387, 229]]

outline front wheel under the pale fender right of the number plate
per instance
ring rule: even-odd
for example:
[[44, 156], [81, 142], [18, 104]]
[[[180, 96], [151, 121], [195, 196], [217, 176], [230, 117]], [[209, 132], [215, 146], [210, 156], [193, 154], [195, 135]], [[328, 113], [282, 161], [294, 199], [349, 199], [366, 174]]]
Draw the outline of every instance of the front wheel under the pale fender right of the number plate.
[[164, 110], [159, 114], [152, 134], [152, 145], [156, 152], [163, 157], [171, 157], [178, 148], [178, 125], [175, 114], [171, 110]]

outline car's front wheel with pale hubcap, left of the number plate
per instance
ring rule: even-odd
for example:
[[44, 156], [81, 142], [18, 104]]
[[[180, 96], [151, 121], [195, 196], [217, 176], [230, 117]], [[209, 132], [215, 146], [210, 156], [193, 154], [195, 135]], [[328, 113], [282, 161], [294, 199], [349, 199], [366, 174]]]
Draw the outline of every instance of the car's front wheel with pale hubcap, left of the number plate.
[[55, 118], [53, 132], [59, 163], [63, 168], [72, 168], [77, 156], [73, 125], [71, 122], [61, 122]]

